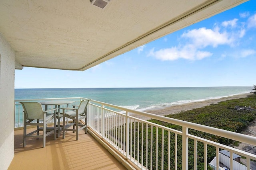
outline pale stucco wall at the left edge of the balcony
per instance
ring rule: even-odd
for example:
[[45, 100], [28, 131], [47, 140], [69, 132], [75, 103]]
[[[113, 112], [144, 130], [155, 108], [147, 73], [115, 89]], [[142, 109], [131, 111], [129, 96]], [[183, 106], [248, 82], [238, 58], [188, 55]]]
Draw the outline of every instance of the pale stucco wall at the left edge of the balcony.
[[0, 33], [0, 169], [14, 156], [15, 52]]

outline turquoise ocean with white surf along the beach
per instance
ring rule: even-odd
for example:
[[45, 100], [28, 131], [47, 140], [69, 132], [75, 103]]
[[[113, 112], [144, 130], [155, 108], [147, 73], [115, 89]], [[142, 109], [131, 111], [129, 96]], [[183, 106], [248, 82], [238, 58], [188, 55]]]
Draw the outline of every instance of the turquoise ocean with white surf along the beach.
[[136, 110], [217, 99], [252, 92], [253, 86], [184, 88], [47, 88], [15, 89], [15, 100], [84, 97]]

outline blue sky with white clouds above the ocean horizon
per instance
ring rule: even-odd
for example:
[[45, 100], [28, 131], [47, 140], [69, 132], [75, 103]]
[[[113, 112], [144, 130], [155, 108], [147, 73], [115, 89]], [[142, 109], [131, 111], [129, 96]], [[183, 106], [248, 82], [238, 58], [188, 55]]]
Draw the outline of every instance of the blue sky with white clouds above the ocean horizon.
[[256, 0], [83, 72], [24, 67], [15, 88], [253, 86]]

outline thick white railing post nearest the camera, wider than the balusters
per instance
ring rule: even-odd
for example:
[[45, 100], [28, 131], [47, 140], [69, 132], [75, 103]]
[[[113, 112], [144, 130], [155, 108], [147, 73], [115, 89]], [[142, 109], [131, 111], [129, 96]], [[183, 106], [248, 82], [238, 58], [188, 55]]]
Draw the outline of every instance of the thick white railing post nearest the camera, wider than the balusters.
[[182, 127], [182, 170], [188, 170], [188, 127]]

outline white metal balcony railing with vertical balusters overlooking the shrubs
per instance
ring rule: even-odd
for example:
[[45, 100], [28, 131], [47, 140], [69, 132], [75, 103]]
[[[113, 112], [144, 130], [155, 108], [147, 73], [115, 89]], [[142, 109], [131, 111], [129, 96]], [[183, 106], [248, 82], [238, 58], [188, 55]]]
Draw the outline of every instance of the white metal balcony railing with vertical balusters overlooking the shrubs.
[[[77, 104], [82, 99], [85, 98], [26, 101], [74, 100], [74, 103]], [[15, 125], [17, 127], [22, 126], [23, 113], [21, 106], [18, 104], [20, 101], [15, 100]], [[178, 125], [180, 129], [172, 129], [136, 118], [138, 116]], [[88, 106], [87, 121], [88, 128], [100, 135], [102, 140], [114, 147], [120, 155], [130, 160], [133, 166], [141, 169], [207, 169], [211, 161], [210, 156], [212, 156], [208, 155], [209, 149], [216, 150], [216, 153], [222, 149], [230, 151], [230, 169], [233, 169], [232, 153], [236, 153], [246, 159], [247, 170], [250, 170], [250, 162], [256, 161], [255, 154], [191, 135], [189, 131], [194, 129], [256, 146], [256, 137], [240, 133], [127, 109], [95, 100], [91, 100]], [[193, 143], [193, 147], [189, 148], [188, 146], [191, 146], [188, 145], [189, 143]], [[200, 154], [203, 155], [202, 158], [199, 156]], [[218, 155], [213, 156], [213, 158], [216, 156], [216, 167], [220, 166]]]

